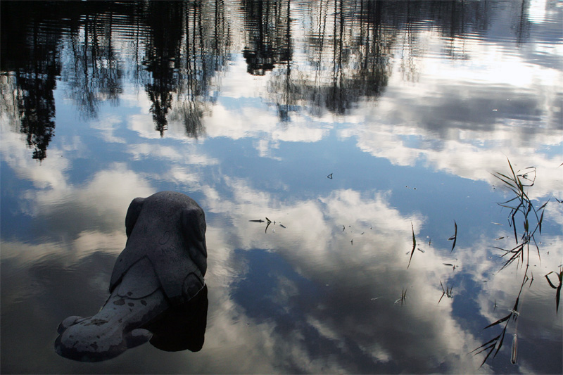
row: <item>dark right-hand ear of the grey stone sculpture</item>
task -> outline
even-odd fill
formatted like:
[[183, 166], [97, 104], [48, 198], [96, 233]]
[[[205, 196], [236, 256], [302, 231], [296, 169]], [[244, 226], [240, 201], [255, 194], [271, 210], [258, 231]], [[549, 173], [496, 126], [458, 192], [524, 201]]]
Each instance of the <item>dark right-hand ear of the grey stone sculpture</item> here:
[[182, 234], [191, 260], [202, 275], [207, 269], [207, 246], [205, 246], [205, 214], [198, 206], [190, 206], [182, 212]]

